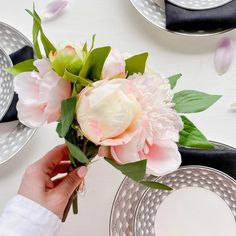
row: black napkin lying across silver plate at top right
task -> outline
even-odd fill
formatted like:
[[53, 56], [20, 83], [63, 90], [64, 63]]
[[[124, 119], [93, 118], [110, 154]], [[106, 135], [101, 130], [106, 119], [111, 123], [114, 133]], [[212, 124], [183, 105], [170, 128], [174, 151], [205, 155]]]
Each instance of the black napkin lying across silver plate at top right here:
[[188, 10], [166, 2], [166, 28], [169, 30], [217, 30], [236, 27], [236, 0], [207, 10]]

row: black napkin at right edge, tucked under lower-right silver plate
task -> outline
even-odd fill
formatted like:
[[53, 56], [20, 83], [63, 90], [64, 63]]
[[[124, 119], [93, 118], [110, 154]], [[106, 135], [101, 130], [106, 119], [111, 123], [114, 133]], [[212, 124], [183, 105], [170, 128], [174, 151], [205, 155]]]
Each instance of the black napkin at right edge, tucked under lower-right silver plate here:
[[179, 147], [179, 151], [182, 156], [182, 166], [208, 166], [236, 179], [236, 150], [203, 150]]

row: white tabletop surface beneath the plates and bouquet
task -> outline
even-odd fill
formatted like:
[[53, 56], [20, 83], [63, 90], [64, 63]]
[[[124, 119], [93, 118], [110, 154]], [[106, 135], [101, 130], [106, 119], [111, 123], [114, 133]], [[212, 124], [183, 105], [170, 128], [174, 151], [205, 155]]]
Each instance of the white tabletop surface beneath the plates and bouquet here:
[[[46, 1], [35, 1], [40, 11]], [[24, 9], [31, 0], [1, 1], [0, 21], [31, 39], [32, 19]], [[230, 104], [236, 100], [236, 58], [229, 71], [219, 77], [213, 64], [216, 45], [224, 36], [235, 41], [235, 31], [207, 38], [179, 36], [161, 31], [140, 16], [129, 0], [69, 0], [64, 13], [44, 23], [48, 37], [58, 46], [79, 43], [96, 33], [96, 45], [111, 45], [123, 52], [149, 52], [149, 64], [168, 76], [181, 72], [176, 91], [197, 89], [224, 95], [209, 110], [189, 115], [210, 140], [236, 146], [236, 113]], [[21, 176], [30, 163], [63, 140], [55, 125], [44, 126], [13, 159], [0, 166], [0, 210], [17, 192]], [[0, 130], [1, 132], [1, 130]], [[104, 161], [95, 163], [86, 179], [86, 193], [79, 199], [79, 214], [69, 215], [59, 236], [109, 235], [109, 217], [115, 193], [123, 176]]]

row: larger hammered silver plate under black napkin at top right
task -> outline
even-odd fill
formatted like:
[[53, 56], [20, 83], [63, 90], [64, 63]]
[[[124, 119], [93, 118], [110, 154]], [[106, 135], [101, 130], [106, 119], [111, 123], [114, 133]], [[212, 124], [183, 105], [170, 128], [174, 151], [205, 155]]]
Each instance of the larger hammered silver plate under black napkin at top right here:
[[160, 7], [156, 1], [159, 0], [130, 0], [134, 8], [150, 23], [159, 29], [165, 30], [170, 33], [180, 34], [185, 36], [210, 36], [215, 34], [221, 34], [233, 29], [227, 30], [212, 30], [212, 31], [170, 31], [166, 29], [166, 15], [165, 10]]

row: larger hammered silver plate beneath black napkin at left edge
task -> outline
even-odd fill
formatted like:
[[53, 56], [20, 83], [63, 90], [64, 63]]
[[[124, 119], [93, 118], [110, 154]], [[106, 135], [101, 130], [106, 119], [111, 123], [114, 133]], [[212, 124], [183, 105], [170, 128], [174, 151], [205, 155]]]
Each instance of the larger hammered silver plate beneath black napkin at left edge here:
[[[25, 45], [32, 46], [31, 42], [22, 33], [0, 22], [0, 47], [4, 49], [6, 54], [9, 55]], [[30, 129], [19, 122], [12, 132], [0, 140], [0, 164], [20, 151], [34, 132], [35, 129]]]

